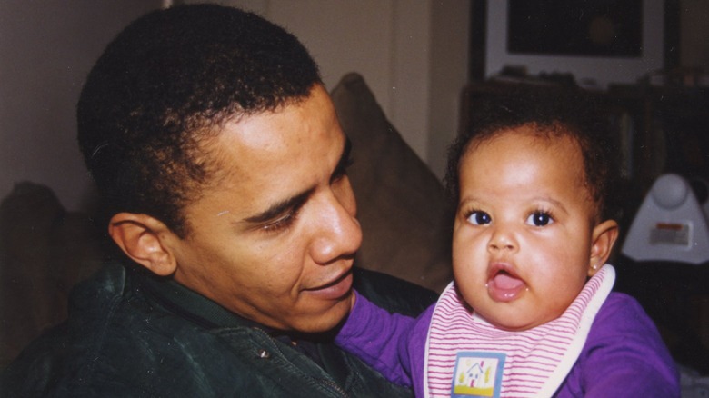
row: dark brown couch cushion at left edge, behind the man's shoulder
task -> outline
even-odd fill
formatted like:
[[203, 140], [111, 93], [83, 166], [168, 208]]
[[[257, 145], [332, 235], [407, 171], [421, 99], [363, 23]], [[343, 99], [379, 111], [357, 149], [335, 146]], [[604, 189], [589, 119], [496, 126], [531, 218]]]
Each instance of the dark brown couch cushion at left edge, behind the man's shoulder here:
[[63, 321], [71, 287], [98, 268], [88, 215], [66, 212], [52, 190], [22, 182], [0, 203], [0, 369]]

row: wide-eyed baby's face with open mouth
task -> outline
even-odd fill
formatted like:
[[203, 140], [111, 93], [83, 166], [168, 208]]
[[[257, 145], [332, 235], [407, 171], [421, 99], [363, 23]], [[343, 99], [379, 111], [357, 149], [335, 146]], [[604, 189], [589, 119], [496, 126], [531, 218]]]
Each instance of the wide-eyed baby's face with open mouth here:
[[564, 313], [594, 274], [593, 240], [594, 204], [572, 139], [522, 126], [464, 154], [454, 275], [490, 323], [524, 330]]

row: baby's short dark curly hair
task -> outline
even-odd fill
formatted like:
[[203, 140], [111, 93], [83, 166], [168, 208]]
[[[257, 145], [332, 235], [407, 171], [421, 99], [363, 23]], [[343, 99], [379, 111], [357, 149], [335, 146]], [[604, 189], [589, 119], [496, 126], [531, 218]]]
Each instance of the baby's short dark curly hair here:
[[598, 221], [615, 218], [617, 209], [610, 195], [618, 181], [617, 144], [602, 106], [594, 95], [581, 90], [527, 86], [481, 101], [464, 131], [448, 148], [444, 182], [453, 204], [460, 199], [459, 169], [466, 151], [504, 131], [529, 125], [536, 134], [550, 139], [566, 135], [579, 145], [585, 185], [596, 205], [596, 217]]

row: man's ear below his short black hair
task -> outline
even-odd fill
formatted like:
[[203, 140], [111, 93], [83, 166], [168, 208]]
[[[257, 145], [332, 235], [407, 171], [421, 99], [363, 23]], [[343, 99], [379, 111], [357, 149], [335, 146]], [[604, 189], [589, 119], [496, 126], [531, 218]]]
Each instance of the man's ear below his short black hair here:
[[176, 238], [161, 221], [147, 214], [119, 213], [111, 217], [108, 234], [135, 263], [155, 274], [175, 273], [175, 254], [165, 240]]

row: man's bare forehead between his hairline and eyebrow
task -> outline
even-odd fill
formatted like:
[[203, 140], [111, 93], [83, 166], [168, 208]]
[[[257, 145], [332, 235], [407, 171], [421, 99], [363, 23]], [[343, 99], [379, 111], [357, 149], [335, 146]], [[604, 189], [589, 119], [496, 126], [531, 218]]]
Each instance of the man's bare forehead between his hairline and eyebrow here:
[[239, 192], [251, 213], [265, 211], [329, 180], [345, 143], [329, 96], [314, 89], [300, 104], [222, 125], [206, 148], [217, 175], [210, 191]]

